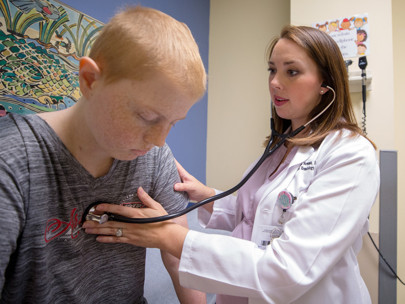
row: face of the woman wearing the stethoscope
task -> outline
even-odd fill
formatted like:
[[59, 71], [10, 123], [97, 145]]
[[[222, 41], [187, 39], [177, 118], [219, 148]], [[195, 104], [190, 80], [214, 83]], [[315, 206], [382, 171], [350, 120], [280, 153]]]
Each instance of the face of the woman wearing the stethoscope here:
[[322, 80], [309, 55], [295, 42], [282, 38], [269, 60], [269, 90], [277, 115], [291, 120], [296, 129], [310, 120], [309, 113], [320, 102]]

